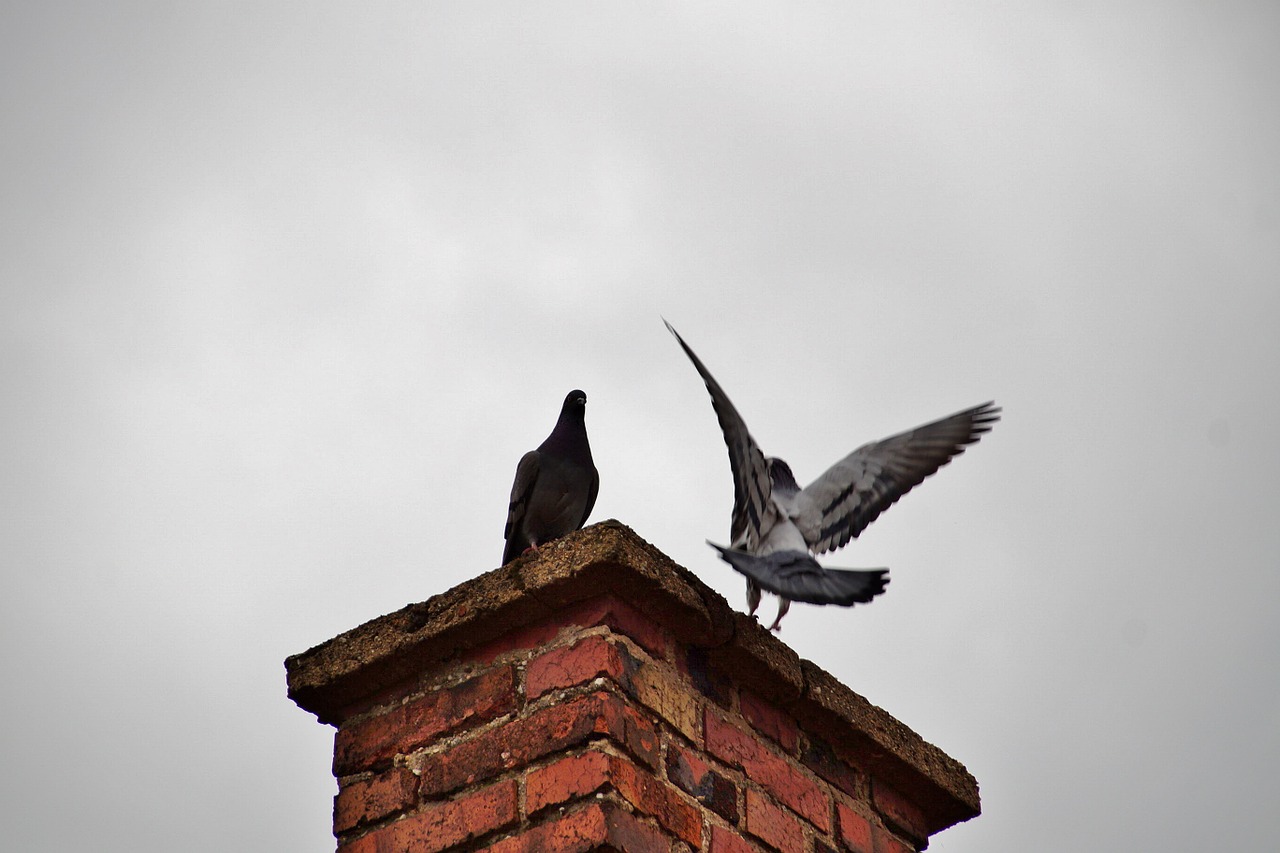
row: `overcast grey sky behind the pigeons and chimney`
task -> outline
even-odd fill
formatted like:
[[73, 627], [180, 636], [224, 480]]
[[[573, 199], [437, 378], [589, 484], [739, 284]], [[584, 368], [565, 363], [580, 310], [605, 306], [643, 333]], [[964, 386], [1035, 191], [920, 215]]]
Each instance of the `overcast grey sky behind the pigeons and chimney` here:
[[1005, 406], [782, 633], [977, 776], [931, 850], [1274, 843], [1280, 6], [111, 5], [0, 12], [14, 849], [330, 849], [283, 658], [494, 567], [570, 388], [741, 606], [659, 316], [801, 482]]

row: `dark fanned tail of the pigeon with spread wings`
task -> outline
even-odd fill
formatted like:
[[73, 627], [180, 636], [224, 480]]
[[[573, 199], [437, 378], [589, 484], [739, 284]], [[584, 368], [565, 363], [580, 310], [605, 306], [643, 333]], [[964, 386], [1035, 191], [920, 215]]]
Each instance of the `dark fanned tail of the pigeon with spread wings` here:
[[806, 605], [865, 605], [888, 585], [888, 569], [823, 569], [801, 551], [774, 551], [756, 557], [714, 542], [707, 544], [762, 589]]

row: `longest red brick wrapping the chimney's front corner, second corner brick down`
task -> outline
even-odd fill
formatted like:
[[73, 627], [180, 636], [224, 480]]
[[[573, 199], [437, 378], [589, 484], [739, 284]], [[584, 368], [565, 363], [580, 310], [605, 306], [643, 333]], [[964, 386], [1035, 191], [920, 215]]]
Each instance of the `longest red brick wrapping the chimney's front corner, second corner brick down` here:
[[522, 720], [512, 720], [452, 749], [426, 756], [420, 793], [438, 797], [598, 735], [608, 736], [650, 767], [658, 763], [658, 733], [653, 724], [620, 697], [598, 692], [539, 708]]

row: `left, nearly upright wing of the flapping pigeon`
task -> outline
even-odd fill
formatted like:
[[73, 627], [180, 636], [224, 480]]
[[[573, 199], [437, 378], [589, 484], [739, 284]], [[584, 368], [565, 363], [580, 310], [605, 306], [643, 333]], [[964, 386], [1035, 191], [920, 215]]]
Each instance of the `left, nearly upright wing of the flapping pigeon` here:
[[[663, 323], [667, 323], [663, 320]], [[754, 551], [760, 542], [763, 530], [773, 526], [777, 508], [769, 498], [772, 484], [769, 480], [769, 467], [764, 461], [764, 453], [756, 446], [755, 439], [746, 432], [746, 424], [741, 415], [733, 409], [728, 394], [719, 387], [716, 378], [707, 370], [703, 362], [689, 348], [680, 333], [667, 323], [667, 330], [676, 336], [680, 347], [694, 362], [698, 373], [707, 383], [707, 391], [712, 396], [712, 407], [719, 420], [721, 432], [724, 434], [724, 446], [728, 448], [728, 466], [733, 473], [733, 516], [730, 526], [733, 547]]]

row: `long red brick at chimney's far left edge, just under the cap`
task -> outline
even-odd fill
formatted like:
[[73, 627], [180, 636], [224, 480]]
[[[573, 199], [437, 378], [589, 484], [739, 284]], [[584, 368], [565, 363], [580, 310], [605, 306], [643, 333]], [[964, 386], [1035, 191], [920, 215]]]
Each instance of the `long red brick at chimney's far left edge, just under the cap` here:
[[340, 727], [334, 738], [333, 775], [381, 770], [398, 753], [509, 713], [515, 707], [515, 670], [509, 666], [488, 670]]

